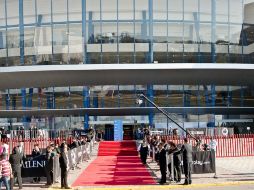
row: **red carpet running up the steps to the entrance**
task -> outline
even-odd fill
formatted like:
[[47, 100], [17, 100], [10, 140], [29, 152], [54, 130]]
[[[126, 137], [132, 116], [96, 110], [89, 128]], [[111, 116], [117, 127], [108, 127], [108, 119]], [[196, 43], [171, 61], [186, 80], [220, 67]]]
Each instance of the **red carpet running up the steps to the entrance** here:
[[98, 157], [73, 183], [76, 186], [156, 184], [140, 162], [134, 141], [101, 142]]

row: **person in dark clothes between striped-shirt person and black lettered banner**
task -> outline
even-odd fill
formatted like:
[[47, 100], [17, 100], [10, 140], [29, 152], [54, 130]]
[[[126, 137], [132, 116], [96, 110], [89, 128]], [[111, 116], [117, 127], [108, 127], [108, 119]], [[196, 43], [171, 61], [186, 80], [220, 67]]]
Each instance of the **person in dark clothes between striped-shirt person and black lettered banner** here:
[[22, 189], [22, 178], [21, 178], [21, 165], [22, 165], [22, 155], [19, 153], [18, 147], [14, 147], [12, 154], [9, 158], [13, 180], [11, 180], [11, 189], [13, 189], [15, 178], [18, 180], [19, 189]]

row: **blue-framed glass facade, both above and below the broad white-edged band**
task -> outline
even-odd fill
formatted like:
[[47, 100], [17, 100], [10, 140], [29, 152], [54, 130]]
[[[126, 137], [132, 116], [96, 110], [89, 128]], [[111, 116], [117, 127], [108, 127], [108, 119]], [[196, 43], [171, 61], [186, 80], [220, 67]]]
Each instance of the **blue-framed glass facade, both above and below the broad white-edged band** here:
[[[253, 18], [254, 0], [0, 0], [0, 66], [252, 64]], [[6, 89], [0, 108], [135, 107], [140, 92], [165, 107], [254, 106], [252, 86], [137, 84]]]

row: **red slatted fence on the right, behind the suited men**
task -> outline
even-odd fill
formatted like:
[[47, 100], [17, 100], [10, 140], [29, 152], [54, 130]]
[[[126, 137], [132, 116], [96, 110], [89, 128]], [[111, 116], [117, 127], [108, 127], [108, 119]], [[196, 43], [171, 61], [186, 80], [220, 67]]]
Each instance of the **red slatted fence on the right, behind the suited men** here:
[[[176, 144], [183, 144], [183, 137], [162, 135], [162, 139], [173, 141]], [[217, 142], [216, 157], [240, 157], [254, 156], [254, 134], [213, 136]], [[202, 144], [209, 144], [211, 136], [201, 136]], [[196, 142], [190, 143], [195, 146]]]

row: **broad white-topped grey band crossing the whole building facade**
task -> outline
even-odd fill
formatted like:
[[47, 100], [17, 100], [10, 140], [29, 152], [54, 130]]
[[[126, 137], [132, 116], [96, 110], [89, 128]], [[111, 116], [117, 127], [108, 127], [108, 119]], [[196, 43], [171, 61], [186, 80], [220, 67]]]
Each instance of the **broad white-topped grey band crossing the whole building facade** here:
[[0, 89], [83, 85], [253, 85], [254, 64], [81, 64], [0, 68]]

